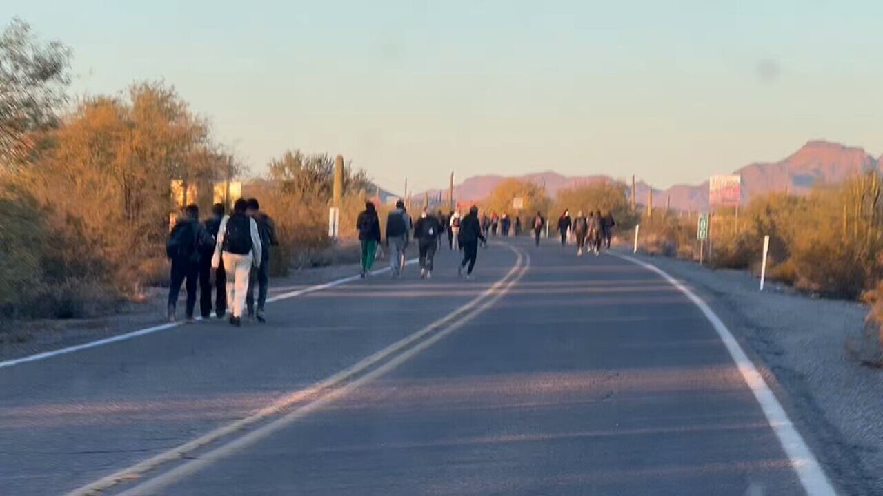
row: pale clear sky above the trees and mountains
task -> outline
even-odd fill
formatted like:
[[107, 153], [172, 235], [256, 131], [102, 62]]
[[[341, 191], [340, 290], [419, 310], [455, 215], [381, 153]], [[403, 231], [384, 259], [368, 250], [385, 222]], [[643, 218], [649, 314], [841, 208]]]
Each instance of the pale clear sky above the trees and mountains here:
[[76, 93], [165, 79], [254, 174], [341, 153], [387, 188], [555, 169], [699, 182], [808, 139], [883, 153], [883, 2], [4, 0]]

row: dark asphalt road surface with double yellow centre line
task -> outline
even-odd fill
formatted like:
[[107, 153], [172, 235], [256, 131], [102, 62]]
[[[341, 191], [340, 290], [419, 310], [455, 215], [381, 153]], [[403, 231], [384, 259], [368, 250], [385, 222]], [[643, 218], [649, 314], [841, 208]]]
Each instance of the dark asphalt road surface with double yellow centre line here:
[[455, 267], [0, 369], [0, 493], [806, 493], [660, 274], [526, 240]]

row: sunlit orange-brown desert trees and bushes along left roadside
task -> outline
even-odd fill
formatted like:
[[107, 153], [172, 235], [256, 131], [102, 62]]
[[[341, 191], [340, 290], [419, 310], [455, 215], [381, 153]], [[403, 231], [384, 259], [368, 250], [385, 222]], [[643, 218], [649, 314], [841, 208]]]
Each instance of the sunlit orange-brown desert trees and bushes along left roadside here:
[[[13, 20], [0, 34], [0, 315], [75, 317], [137, 300], [169, 274], [171, 182], [247, 171], [173, 86], [136, 82], [72, 100], [71, 51]], [[328, 246], [333, 158], [287, 152], [246, 181], [275, 217], [275, 272]], [[347, 164], [342, 233], [373, 191]], [[200, 195], [203, 216], [211, 194]], [[306, 262], [301, 262], [306, 263]]]

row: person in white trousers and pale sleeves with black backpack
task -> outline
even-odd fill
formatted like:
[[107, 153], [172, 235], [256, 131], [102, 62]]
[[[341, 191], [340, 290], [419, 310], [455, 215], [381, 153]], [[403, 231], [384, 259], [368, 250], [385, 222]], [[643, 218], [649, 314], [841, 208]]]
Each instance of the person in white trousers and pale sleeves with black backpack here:
[[238, 199], [233, 204], [233, 214], [221, 221], [218, 229], [212, 267], [227, 271], [227, 303], [230, 304], [230, 324], [242, 325], [245, 311], [245, 294], [251, 278], [252, 266], [260, 270], [263, 259], [258, 223], [246, 214], [248, 202]]

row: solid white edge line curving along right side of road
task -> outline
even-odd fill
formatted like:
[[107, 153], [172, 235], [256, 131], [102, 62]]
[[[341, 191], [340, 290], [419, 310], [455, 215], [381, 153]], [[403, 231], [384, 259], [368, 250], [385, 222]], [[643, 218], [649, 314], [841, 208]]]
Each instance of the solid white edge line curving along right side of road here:
[[828, 480], [825, 470], [822, 470], [821, 465], [819, 465], [819, 460], [812, 454], [812, 450], [807, 446], [806, 441], [804, 441], [800, 432], [797, 432], [794, 424], [788, 417], [788, 414], [785, 413], [785, 409], [782, 408], [781, 403], [776, 399], [773, 390], [766, 384], [766, 380], [764, 380], [764, 377], [758, 372], [754, 363], [751, 362], [751, 358], [745, 354], [745, 351], [739, 345], [739, 342], [736, 341], [733, 333], [730, 332], [728, 327], [711, 309], [711, 307], [706, 304], [705, 300], [698, 297], [689, 288], [684, 286], [683, 283], [677, 281], [667, 272], [651, 263], [620, 253], [611, 252], [610, 254], [619, 257], [620, 259], [625, 259], [638, 264], [641, 267], [645, 267], [656, 274], [660, 274], [660, 276], [671, 283], [672, 286], [680, 289], [681, 292], [688, 297], [700, 311], [702, 311], [706, 316], [706, 319], [711, 322], [712, 327], [714, 327], [718, 336], [721, 337], [721, 341], [724, 343], [724, 346], [727, 347], [729, 356], [733, 358], [734, 362], [736, 362], [736, 367], [739, 369], [739, 372], [742, 373], [745, 383], [751, 389], [754, 397], [758, 400], [760, 409], [763, 410], [767, 422], [773, 429], [773, 432], [775, 432], [776, 437], [779, 438], [781, 447], [784, 449], [785, 455], [788, 455], [791, 467], [796, 471], [797, 477], [800, 479], [800, 483], [804, 486], [806, 494], [808, 496], [834, 496], [837, 494], [837, 492], [834, 491], [834, 486], [831, 485], [831, 481]]

